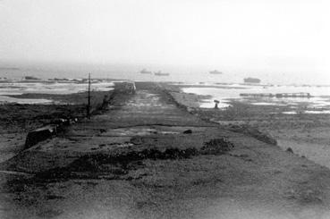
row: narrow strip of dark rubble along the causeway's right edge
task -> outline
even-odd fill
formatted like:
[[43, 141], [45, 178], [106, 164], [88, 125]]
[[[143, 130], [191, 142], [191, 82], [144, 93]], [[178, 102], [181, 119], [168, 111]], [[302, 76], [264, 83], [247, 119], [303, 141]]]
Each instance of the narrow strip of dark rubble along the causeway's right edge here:
[[260, 141], [263, 141], [267, 144], [277, 145], [276, 139], [271, 137], [268, 133], [258, 131], [258, 129], [251, 127], [249, 125], [231, 125], [229, 127], [230, 131], [241, 132], [247, 135], [250, 135], [253, 138], [256, 138]]

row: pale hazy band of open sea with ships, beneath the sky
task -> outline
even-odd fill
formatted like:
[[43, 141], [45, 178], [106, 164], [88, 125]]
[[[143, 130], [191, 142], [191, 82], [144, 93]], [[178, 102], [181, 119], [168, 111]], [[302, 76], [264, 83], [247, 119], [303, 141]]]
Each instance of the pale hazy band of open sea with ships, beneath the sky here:
[[[284, 74], [282, 77], [274, 77], [269, 72], [251, 72], [217, 69], [222, 74], [210, 74], [205, 66], [180, 66], [180, 65], [151, 65], [151, 64], [87, 64], [87, 63], [53, 63], [53, 64], [21, 64], [3, 63], [0, 65], [0, 78], [22, 79], [24, 76], [35, 76], [40, 79], [81, 79], [87, 78], [91, 73], [92, 78], [104, 78], [114, 80], [146, 80], [146, 81], [177, 81], [187, 83], [214, 82], [214, 83], [241, 83], [244, 78], [256, 77], [262, 84], [309, 84], [330, 85], [330, 76], [316, 77], [309, 80], [309, 75], [300, 73]], [[10, 69], [18, 68], [18, 69]], [[141, 74], [142, 69], [151, 72], [168, 72], [169, 76], [155, 76], [154, 74]]]

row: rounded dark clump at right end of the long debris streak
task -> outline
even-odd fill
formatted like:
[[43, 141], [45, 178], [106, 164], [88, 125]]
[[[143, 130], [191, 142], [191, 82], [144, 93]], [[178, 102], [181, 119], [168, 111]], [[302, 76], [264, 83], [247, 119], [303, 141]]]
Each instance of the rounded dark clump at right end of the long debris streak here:
[[222, 155], [233, 149], [233, 147], [233, 143], [228, 139], [211, 139], [204, 143], [204, 146], [200, 148], [199, 153], [201, 155]]

